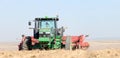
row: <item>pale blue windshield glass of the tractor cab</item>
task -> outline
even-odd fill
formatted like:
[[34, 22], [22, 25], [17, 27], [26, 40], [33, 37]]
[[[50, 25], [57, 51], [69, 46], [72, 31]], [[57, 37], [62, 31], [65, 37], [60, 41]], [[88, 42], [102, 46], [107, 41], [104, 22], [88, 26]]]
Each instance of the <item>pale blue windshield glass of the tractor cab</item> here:
[[55, 28], [53, 20], [41, 21], [40, 28]]

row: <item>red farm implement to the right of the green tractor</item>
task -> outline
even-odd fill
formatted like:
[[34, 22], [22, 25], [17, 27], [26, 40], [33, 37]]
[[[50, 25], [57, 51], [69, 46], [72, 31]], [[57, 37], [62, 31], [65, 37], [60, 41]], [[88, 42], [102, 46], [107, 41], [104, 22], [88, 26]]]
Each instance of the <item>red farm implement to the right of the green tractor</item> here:
[[[84, 42], [85, 39], [85, 35], [80, 35], [80, 36], [70, 36], [71, 39], [71, 46], [75, 47], [75, 48], [82, 48], [82, 49], [86, 49], [89, 47], [89, 43], [88, 42]], [[62, 44], [66, 44], [66, 39], [67, 36], [63, 36], [62, 38]]]

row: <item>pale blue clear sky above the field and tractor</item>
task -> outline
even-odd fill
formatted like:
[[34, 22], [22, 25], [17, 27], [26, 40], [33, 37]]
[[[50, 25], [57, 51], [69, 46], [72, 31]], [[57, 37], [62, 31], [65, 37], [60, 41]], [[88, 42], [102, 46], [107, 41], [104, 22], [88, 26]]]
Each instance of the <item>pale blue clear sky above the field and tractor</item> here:
[[120, 39], [120, 0], [0, 0], [0, 42], [32, 36], [28, 21], [56, 15], [64, 35]]

